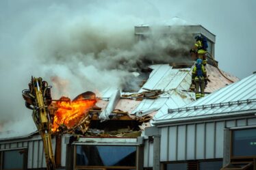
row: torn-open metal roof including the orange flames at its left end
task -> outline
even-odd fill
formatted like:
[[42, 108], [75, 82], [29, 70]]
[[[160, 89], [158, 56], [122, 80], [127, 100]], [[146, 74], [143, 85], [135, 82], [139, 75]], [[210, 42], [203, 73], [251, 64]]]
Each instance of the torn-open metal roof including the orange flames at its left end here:
[[[169, 64], [150, 68], [149, 79], [138, 92], [120, 92], [109, 87], [102, 92], [101, 98], [92, 92], [74, 100], [60, 98], [50, 108], [55, 111], [53, 131], [98, 137], [138, 137], [144, 128], [151, 126], [151, 121], [165, 115], [168, 109], [194, 101], [194, 92], [190, 91], [192, 68], [174, 68]], [[210, 80], [206, 92], [231, 83], [217, 68], [207, 65], [206, 69]], [[224, 74], [238, 81], [235, 76]], [[4, 138], [5, 134], [0, 136]]]

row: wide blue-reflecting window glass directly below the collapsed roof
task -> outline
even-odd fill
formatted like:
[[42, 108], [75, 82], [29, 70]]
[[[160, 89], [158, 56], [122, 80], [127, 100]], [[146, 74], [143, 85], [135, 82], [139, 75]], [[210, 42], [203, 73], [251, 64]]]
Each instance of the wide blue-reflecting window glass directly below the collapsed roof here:
[[77, 145], [76, 165], [136, 167], [136, 146]]

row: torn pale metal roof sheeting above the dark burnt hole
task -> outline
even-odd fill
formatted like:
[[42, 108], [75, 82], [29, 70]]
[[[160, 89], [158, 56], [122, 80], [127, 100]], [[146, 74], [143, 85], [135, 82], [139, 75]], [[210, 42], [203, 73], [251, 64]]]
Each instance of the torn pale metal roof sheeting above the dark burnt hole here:
[[[151, 119], [159, 119], [166, 115], [168, 109], [183, 107], [194, 101], [194, 92], [190, 91], [192, 68], [174, 68], [169, 64], [157, 64], [150, 66], [152, 69], [149, 79], [136, 93], [123, 93], [115, 87], [107, 87], [97, 100], [98, 114], [101, 122], [112, 119], [113, 115], [123, 115], [142, 122], [140, 129], [151, 126]], [[217, 68], [206, 66], [211, 82], [205, 91], [211, 93], [216, 89], [225, 87], [231, 82], [220, 75]], [[229, 79], [237, 81], [235, 76], [226, 74]], [[140, 117], [138, 119], [138, 117]], [[31, 121], [31, 124], [34, 124]], [[17, 130], [17, 127], [14, 127]], [[34, 132], [23, 130], [23, 133], [12, 133], [12, 137], [19, 137]], [[96, 130], [97, 131], [97, 130]], [[94, 132], [96, 132], [94, 130]], [[16, 135], [16, 136], [15, 136]], [[0, 133], [0, 138], [10, 136]]]

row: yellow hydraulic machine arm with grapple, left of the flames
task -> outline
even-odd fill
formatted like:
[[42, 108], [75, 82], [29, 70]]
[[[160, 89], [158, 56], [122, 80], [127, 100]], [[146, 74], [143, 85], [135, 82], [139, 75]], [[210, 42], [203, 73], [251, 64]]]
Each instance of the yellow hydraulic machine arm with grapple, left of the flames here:
[[48, 109], [51, 104], [51, 87], [42, 78], [31, 77], [29, 89], [23, 90], [23, 98], [28, 109], [33, 110], [32, 117], [44, 143], [44, 156], [47, 170], [55, 170], [53, 148], [51, 145], [51, 124], [53, 115]]

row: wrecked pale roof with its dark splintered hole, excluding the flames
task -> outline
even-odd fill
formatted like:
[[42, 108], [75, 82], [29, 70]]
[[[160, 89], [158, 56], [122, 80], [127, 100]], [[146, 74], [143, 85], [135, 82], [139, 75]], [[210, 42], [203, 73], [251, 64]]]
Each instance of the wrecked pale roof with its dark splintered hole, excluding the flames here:
[[[79, 126], [75, 126], [79, 128], [73, 132], [86, 136], [136, 137], [168, 109], [194, 101], [194, 92], [190, 91], [192, 68], [174, 68], [168, 64], [150, 68], [153, 71], [138, 92], [120, 93], [118, 89], [106, 89], [103, 98], [98, 98], [96, 105], [88, 111], [90, 116], [85, 116], [87, 121], [82, 124], [86, 125], [79, 122]], [[205, 89], [208, 93], [231, 83], [219, 74], [217, 68], [207, 66], [206, 69], [211, 80]]]

